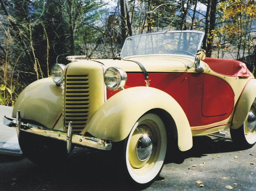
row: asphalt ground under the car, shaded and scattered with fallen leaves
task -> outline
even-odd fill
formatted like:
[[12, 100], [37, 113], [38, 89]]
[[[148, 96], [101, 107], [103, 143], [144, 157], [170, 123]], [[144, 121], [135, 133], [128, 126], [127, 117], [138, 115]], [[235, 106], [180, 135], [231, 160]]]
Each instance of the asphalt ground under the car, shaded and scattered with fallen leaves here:
[[[167, 163], [144, 191], [256, 191], [256, 146], [240, 151], [230, 135], [195, 137], [193, 144], [184, 160], [171, 153], [176, 163]], [[106, 152], [75, 148], [64, 165], [53, 161], [52, 167], [42, 167], [24, 156], [0, 154], [0, 191], [131, 190], [111, 176], [109, 158]]]

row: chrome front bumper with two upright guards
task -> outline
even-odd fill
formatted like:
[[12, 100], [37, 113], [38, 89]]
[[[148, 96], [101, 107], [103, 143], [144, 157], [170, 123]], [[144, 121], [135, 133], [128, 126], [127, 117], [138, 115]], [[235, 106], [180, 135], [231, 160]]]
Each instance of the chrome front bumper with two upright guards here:
[[72, 122], [69, 122], [69, 126], [67, 132], [58, 131], [54, 129], [48, 129], [43, 126], [33, 125], [31, 123], [24, 123], [21, 121], [20, 112], [18, 111], [16, 114], [16, 119], [10, 119], [4, 116], [3, 120], [4, 125], [15, 127], [17, 130], [17, 134], [19, 137], [19, 133], [21, 131], [33, 133], [36, 135], [49, 137], [53, 139], [57, 139], [60, 141], [66, 141], [67, 143], [67, 153], [71, 152], [71, 145], [81, 145], [83, 147], [91, 147], [100, 150], [111, 150], [112, 149], [112, 141], [111, 140], [103, 140], [94, 137], [87, 137], [80, 134], [73, 134], [73, 126]]

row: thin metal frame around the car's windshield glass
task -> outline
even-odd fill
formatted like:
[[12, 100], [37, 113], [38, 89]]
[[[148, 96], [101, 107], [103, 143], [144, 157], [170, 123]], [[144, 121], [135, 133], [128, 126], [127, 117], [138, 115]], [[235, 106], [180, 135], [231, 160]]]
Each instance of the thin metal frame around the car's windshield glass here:
[[[126, 44], [129, 40], [131, 40], [131, 38], [136, 38], [136, 37], [142, 37], [142, 36], [148, 36], [148, 35], [157, 35], [157, 34], [171, 34], [171, 33], [197, 33], [197, 34], [201, 34], [201, 39], [198, 43], [198, 47], [197, 50], [199, 50], [201, 48], [201, 44], [202, 41], [204, 39], [204, 34], [205, 32], [202, 31], [193, 31], [193, 30], [186, 30], [186, 31], [164, 31], [164, 32], [150, 32], [150, 33], [144, 33], [144, 34], [138, 34], [138, 35], [134, 35], [134, 36], [130, 36], [127, 37], [126, 40], [124, 41], [124, 45], [122, 47], [121, 53], [120, 53], [120, 57], [121, 58], [128, 58], [128, 57], [141, 57], [141, 56], [163, 56], [163, 55], [172, 55], [172, 56], [184, 56], [184, 57], [195, 57], [195, 55], [187, 55], [187, 54], [173, 54], [173, 53], [155, 53], [155, 54], [136, 54], [136, 55], [129, 55], [129, 56], [122, 56], [124, 53], [124, 48], [126, 47]], [[195, 51], [196, 54], [196, 51]]]

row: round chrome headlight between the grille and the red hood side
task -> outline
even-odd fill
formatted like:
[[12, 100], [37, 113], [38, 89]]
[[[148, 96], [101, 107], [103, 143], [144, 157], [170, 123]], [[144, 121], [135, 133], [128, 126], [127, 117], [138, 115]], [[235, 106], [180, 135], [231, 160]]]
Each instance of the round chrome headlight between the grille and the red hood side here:
[[111, 67], [104, 73], [104, 82], [110, 90], [122, 90], [126, 80], [127, 74], [121, 68]]

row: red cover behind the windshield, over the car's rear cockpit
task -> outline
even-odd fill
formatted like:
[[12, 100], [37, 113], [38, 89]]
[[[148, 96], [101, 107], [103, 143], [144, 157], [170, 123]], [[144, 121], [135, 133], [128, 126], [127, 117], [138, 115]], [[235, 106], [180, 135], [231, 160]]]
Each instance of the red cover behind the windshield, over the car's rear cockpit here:
[[205, 58], [204, 62], [214, 72], [225, 76], [248, 77], [251, 75], [246, 64], [237, 60]]

